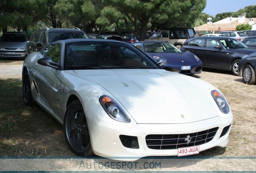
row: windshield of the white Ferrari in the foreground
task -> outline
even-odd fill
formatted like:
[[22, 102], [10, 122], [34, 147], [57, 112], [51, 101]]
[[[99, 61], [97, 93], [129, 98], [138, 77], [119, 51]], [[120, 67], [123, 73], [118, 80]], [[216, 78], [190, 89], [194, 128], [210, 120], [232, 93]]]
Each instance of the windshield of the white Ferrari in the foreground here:
[[66, 46], [66, 69], [157, 69], [151, 58], [130, 44], [74, 42]]

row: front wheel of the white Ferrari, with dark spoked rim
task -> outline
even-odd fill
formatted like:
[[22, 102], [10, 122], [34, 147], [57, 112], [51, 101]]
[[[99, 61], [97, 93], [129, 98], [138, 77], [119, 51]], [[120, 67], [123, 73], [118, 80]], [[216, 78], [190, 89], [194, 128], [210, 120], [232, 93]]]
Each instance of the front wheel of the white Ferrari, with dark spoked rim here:
[[68, 105], [64, 117], [64, 134], [68, 146], [76, 155], [93, 155], [85, 112], [78, 100]]

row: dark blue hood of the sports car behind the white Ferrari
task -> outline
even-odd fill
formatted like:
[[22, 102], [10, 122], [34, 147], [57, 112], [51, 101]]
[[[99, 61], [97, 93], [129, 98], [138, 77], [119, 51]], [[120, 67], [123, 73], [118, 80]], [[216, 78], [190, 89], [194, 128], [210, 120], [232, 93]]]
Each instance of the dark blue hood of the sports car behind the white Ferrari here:
[[149, 55], [151, 58], [153, 58], [153, 56], [165, 58], [167, 60], [167, 64], [191, 64], [196, 62], [194, 54], [188, 52], [147, 53], [147, 55]]

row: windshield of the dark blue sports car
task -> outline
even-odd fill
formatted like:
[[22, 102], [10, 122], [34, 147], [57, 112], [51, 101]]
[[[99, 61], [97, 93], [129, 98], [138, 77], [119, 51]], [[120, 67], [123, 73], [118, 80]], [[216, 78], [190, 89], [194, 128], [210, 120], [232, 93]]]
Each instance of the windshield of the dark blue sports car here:
[[168, 42], [144, 43], [144, 51], [146, 53], [181, 52], [176, 46], [173, 46]]

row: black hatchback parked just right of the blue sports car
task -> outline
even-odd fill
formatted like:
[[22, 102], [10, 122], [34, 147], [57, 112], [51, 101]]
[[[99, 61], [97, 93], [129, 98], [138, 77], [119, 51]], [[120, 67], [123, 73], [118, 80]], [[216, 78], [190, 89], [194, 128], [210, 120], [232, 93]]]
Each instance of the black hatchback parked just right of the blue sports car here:
[[245, 44], [229, 37], [195, 37], [184, 42], [182, 52], [198, 56], [205, 68], [231, 70], [237, 75], [238, 64], [242, 57], [256, 52]]

